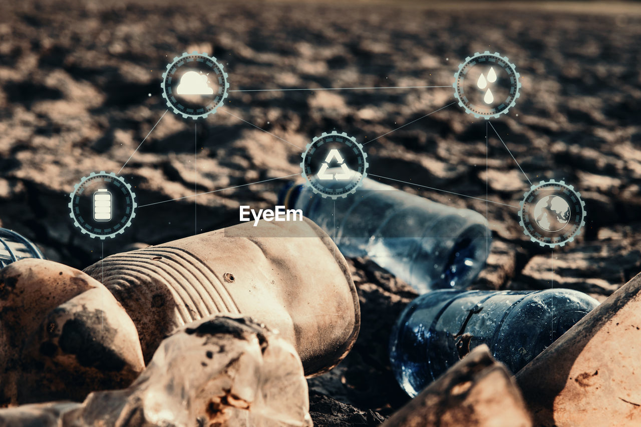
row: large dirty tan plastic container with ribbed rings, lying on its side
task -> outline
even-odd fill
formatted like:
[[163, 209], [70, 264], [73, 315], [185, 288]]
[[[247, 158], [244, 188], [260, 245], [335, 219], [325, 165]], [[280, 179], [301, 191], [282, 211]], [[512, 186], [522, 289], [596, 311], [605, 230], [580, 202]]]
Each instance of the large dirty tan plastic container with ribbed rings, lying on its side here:
[[349, 353], [360, 328], [347, 262], [307, 218], [244, 222], [110, 255], [85, 272], [131, 317], [147, 362], [176, 328], [242, 314], [278, 330], [296, 347], [305, 374], [317, 375]]

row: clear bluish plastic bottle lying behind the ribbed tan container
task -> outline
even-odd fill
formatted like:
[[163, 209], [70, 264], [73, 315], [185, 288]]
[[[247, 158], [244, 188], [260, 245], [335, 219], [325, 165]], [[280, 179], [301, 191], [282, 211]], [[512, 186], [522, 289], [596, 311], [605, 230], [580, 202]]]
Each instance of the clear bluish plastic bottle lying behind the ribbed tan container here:
[[[344, 183], [342, 183], [344, 185]], [[485, 266], [492, 233], [483, 215], [365, 178], [333, 200], [289, 183], [279, 205], [301, 209], [345, 256], [368, 256], [420, 293], [464, 288]]]

